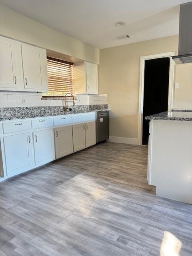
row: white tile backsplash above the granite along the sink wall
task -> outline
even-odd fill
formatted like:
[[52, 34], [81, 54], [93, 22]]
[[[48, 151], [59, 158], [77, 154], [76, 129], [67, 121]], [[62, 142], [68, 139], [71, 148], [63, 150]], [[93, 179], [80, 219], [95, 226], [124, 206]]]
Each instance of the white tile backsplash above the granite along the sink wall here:
[[[62, 100], [42, 100], [41, 92], [10, 92], [0, 91], [0, 108], [62, 106]], [[68, 101], [67, 105], [72, 105]], [[108, 104], [108, 94], [76, 94], [75, 105]]]

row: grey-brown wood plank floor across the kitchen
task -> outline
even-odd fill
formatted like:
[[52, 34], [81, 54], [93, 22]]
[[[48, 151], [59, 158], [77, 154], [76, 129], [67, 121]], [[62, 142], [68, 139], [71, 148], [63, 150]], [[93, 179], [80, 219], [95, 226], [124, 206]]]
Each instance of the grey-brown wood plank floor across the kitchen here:
[[147, 147], [104, 142], [1, 182], [0, 256], [156, 256], [165, 230], [192, 256], [192, 205], [146, 176]]

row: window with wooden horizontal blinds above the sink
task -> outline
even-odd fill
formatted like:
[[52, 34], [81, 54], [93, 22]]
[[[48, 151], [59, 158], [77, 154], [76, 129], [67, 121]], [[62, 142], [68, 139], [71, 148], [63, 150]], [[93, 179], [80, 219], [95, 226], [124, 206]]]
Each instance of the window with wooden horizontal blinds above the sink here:
[[48, 92], [43, 97], [61, 97], [67, 92], [73, 94], [73, 63], [47, 57]]

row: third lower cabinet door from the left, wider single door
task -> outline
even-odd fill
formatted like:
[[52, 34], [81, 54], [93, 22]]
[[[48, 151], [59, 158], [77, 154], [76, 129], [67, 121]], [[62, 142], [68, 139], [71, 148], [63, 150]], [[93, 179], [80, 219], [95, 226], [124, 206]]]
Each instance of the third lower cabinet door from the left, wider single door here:
[[63, 126], [54, 129], [56, 158], [73, 152], [72, 126]]

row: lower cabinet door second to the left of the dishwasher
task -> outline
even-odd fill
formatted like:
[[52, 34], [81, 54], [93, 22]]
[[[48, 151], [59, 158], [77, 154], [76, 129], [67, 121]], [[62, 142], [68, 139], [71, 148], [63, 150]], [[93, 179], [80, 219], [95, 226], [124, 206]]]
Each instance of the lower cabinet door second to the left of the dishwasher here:
[[73, 125], [73, 150], [78, 151], [85, 148], [85, 124]]

